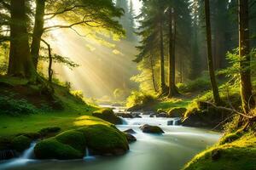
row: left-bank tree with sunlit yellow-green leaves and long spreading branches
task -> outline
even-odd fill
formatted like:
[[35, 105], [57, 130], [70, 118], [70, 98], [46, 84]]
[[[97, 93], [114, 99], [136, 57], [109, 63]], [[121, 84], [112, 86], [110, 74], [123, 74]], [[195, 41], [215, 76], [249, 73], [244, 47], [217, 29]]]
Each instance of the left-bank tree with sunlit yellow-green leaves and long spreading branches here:
[[[85, 26], [91, 28], [104, 28], [113, 33], [123, 35], [124, 31], [119, 25], [119, 22], [113, 20], [114, 17], [120, 17], [123, 12], [120, 8], [115, 8], [111, 0], [79, 0], [79, 1], [36, 1], [36, 15], [35, 24], [32, 35], [31, 52], [33, 56], [34, 65], [38, 67], [38, 56], [40, 49], [41, 37], [44, 32], [54, 29], [73, 29], [76, 33], [78, 31], [75, 26]], [[47, 10], [47, 13], [45, 13]], [[65, 19], [66, 25], [44, 26], [44, 17], [46, 20], [53, 20], [55, 18]], [[81, 36], [79, 34], [79, 36]]]

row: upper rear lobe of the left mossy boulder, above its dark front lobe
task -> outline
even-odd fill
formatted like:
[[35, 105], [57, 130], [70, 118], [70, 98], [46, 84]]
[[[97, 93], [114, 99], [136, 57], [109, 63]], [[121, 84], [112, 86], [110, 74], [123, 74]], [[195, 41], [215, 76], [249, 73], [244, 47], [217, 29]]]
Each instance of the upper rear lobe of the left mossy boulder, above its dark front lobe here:
[[80, 152], [83, 152], [86, 148], [86, 140], [84, 138], [84, 134], [79, 131], [66, 131], [64, 133], [58, 134], [55, 139], [62, 144], [68, 144], [72, 146], [74, 149], [79, 150]]

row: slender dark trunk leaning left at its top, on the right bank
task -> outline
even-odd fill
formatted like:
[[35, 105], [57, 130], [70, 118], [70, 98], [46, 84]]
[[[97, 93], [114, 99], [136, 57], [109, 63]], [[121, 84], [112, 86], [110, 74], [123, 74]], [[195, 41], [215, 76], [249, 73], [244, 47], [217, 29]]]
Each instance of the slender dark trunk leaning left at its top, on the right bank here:
[[206, 13], [206, 26], [207, 26], [207, 52], [208, 52], [208, 69], [210, 79], [212, 83], [212, 93], [215, 104], [221, 103], [218, 94], [218, 85], [214, 73], [213, 59], [212, 59], [212, 32], [211, 32], [211, 21], [210, 21], [210, 5], [209, 0], [205, 0], [205, 13]]

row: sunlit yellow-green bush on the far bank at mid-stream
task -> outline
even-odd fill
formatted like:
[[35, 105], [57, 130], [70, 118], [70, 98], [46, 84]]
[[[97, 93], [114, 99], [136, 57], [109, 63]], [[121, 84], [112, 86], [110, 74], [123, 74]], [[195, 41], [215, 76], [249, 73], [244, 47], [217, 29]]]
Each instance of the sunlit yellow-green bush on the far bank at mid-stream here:
[[126, 106], [132, 107], [134, 105], [148, 105], [150, 103], [153, 103], [155, 100], [156, 97], [152, 94], [132, 91], [131, 95], [127, 98]]

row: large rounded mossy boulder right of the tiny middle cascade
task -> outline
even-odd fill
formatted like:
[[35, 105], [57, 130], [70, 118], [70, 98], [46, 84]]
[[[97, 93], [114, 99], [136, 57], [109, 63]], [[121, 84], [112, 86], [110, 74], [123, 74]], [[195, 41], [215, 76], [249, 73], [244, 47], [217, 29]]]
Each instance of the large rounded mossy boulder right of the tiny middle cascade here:
[[120, 155], [129, 150], [125, 134], [117, 128], [99, 124], [79, 130], [84, 133], [88, 148], [96, 155]]

